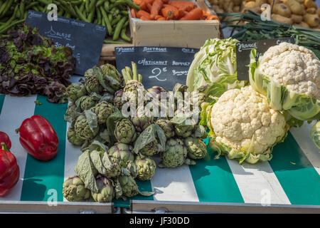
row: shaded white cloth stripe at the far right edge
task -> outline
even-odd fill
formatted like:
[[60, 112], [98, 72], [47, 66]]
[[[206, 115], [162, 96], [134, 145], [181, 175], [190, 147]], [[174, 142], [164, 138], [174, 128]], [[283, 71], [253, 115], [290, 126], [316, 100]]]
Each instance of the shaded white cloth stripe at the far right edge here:
[[311, 124], [304, 123], [301, 128], [291, 128], [290, 132], [304, 152], [304, 155], [306, 155], [311, 165], [320, 175], [320, 150], [314, 145], [310, 137], [310, 130], [315, 123], [316, 121], [313, 121]]

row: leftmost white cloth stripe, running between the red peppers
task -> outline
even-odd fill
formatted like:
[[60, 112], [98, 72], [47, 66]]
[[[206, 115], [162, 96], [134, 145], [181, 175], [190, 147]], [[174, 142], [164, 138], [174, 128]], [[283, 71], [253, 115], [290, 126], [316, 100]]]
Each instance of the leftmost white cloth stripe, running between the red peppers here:
[[26, 157], [28, 153], [21, 146], [19, 142], [19, 134], [16, 133], [16, 129], [20, 128], [23, 120], [30, 118], [34, 114], [36, 105], [34, 102], [36, 98], [36, 95], [19, 98], [6, 95], [4, 98], [4, 105], [0, 115], [0, 130], [9, 135], [12, 145], [11, 152], [16, 156], [20, 170], [20, 177], [9, 195], [1, 197], [1, 200], [20, 200], [24, 170], [26, 167]]

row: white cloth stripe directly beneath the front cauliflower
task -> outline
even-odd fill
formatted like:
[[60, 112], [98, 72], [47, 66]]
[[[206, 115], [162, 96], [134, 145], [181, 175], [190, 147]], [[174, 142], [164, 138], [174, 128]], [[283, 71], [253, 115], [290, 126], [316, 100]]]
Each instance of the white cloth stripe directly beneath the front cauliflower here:
[[227, 158], [227, 161], [245, 203], [290, 204], [268, 162], [240, 165], [237, 160]]

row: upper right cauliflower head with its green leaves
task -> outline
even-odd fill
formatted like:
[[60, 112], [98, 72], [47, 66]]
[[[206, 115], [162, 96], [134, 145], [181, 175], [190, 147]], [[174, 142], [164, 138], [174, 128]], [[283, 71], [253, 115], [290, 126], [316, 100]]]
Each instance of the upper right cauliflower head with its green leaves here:
[[270, 47], [256, 63], [251, 51], [250, 85], [267, 96], [274, 110], [297, 120], [314, 120], [320, 113], [320, 61], [309, 49], [292, 43]]

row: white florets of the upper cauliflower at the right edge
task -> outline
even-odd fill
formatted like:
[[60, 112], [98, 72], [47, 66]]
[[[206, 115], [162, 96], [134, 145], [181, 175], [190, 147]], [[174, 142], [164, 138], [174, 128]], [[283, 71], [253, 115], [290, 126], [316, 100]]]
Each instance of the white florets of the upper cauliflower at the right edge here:
[[320, 61], [308, 48], [286, 42], [272, 46], [259, 69], [288, 90], [320, 99]]

